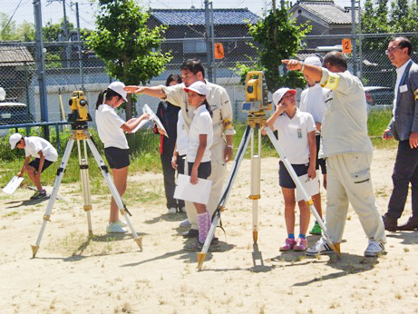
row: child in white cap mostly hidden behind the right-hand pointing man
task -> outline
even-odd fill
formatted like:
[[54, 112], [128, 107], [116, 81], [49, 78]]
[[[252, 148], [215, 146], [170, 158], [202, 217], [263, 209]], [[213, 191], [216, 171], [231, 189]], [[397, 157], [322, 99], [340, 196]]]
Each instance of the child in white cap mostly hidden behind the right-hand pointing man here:
[[[308, 56], [305, 59], [305, 64], [311, 64], [315, 66], [322, 66], [321, 60], [317, 56]], [[299, 109], [302, 112], [311, 113], [316, 125], [316, 170], [321, 166], [321, 172], [324, 176], [324, 188], [326, 188], [326, 160], [318, 158], [319, 146], [321, 142], [321, 125], [324, 113], [326, 111], [326, 96], [329, 93], [329, 89], [322, 88], [321, 84], [316, 82], [308, 74], [305, 74], [305, 80], [307, 83], [306, 89], [300, 94]], [[319, 216], [322, 218], [322, 205], [321, 205], [321, 192], [312, 196], [314, 206]], [[310, 234], [321, 235], [322, 230], [319, 223], [316, 221]]]

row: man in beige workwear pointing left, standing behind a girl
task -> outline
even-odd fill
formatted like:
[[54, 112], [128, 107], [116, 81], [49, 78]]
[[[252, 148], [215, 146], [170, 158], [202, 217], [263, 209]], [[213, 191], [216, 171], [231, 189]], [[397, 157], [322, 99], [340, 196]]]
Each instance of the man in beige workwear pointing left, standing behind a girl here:
[[[227, 162], [232, 159], [232, 135], [235, 134], [232, 126], [232, 106], [225, 88], [205, 80], [205, 70], [199, 60], [190, 59], [185, 61], [181, 65], [180, 73], [183, 83], [174, 86], [127, 86], [125, 90], [128, 93], [145, 93], [179, 106], [184, 119], [184, 126], [189, 132], [194, 108], [190, 107], [187, 102], [187, 93], [184, 92], [184, 88], [198, 81], [209, 85], [210, 93], [206, 99], [212, 111], [213, 144], [210, 148], [212, 172], [208, 180], [212, 181], [212, 187], [210, 189], [208, 211], [212, 215], [219, 204], [227, 174]], [[190, 201], [186, 201], [186, 212], [191, 227], [190, 231], [183, 236], [188, 238], [197, 237], [196, 209]]]

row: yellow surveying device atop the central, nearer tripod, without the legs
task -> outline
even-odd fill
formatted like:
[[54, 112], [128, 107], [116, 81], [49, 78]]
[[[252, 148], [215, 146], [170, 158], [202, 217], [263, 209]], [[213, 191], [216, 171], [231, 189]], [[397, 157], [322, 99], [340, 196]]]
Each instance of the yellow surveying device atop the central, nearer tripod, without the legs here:
[[246, 101], [242, 111], [248, 113], [250, 127], [262, 127], [267, 119], [266, 112], [272, 109], [267, 99], [267, 83], [262, 71], [249, 71], [246, 78]]

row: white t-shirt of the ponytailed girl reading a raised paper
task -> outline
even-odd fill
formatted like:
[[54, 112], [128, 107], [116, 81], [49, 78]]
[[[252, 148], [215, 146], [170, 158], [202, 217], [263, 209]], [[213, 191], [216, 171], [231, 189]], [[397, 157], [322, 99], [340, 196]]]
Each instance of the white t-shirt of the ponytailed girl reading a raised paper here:
[[129, 149], [125, 133], [121, 129], [123, 123], [125, 121], [116, 114], [112, 106], [106, 103], [99, 106], [96, 110], [96, 125], [104, 147]]

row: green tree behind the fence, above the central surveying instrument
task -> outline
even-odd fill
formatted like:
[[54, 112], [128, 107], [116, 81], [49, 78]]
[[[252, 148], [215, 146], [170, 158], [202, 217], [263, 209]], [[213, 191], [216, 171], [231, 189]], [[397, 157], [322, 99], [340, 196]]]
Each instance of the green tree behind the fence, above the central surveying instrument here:
[[238, 74], [241, 81], [250, 70], [264, 71], [267, 80], [267, 87], [274, 92], [279, 87], [302, 87], [304, 79], [296, 72], [284, 71], [280, 68], [281, 60], [293, 58], [301, 49], [301, 41], [309, 32], [311, 26], [296, 25], [293, 19], [287, 14], [287, 9], [276, 9], [269, 11], [264, 19], [258, 23], [249, 25], [249, 34], [257, 43], [253, 45], [258, 51], [259, 61], [252, 67], [245, 64], [237, 64]]

